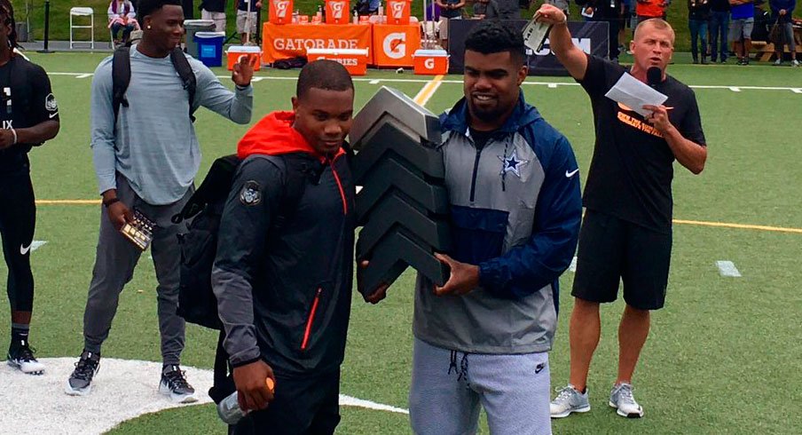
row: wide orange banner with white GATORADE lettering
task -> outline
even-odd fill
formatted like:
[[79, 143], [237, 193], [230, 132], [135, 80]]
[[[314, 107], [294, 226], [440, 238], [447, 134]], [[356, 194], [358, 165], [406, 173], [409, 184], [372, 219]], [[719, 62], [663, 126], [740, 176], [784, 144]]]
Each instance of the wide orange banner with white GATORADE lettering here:
[[362, 48], [368, 49], [370, 56], [373, 51], [370, 28], [371, 26], [366, 24], [276, 25], [267, 22], [263, 26], [262, 59], [264, 63], [273, 63], [279, 59], [306, 57], [306, 50], [310, 48], [329, 50]]

